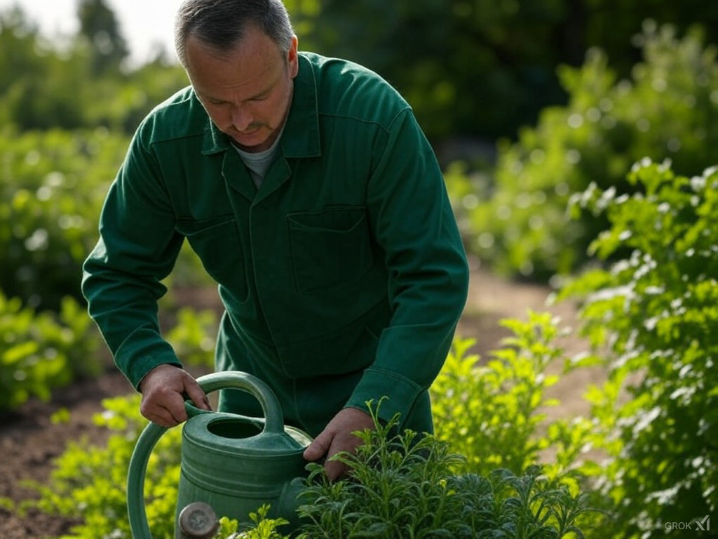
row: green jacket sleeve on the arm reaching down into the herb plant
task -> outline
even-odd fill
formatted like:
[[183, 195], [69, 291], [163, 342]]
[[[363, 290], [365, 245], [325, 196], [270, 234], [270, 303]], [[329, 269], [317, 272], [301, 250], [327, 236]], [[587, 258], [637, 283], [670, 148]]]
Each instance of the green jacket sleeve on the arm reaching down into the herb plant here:
[[411, 109], [392, 122], [368, 183], [370, 226], [385, 253], [390, 325], [347, 403], [389, 397], [380, 417], [407, 418], [444, 364], [467, 298], [461, 236], [434, 152]]

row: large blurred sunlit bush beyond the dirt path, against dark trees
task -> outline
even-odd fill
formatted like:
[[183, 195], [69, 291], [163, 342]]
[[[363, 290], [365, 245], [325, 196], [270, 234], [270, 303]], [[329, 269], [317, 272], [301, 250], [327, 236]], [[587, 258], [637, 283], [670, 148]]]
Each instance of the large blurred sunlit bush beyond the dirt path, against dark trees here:
[[630, 80], [617, 81], [600, 50], [580, 69], [561, 68], [568, 105], [545, 109], [518, 142], [500, 145], [493, 185], [451, 176], [468, 249], [495, 270], [547, 279], [577, 269], [607, 223], [591, 213], [572, 221], [570, 196], [591, 182], [625, 190], [630, 165], [645, 156], [670, 157], [687, 174], [714, 165], [716, 48], [697, 32], [679, 39], [650, 23], [638, 42], [644, 59]]

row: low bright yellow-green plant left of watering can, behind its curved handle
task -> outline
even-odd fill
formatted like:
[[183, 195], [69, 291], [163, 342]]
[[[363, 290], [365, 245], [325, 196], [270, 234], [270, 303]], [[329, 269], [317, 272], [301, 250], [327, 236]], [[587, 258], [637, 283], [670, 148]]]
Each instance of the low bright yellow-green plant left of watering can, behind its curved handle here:
[[[105, 446], [70, 442], [55, 461], [47, 484], [34, 484], [39, 509], [80, 523], [62, 539], [131, 539], [126, 508], [130, 457], [146, 420], [139, 414], [139, 395], [103, 401], [106, 412], [95, 423], [108, 429]], [[173, 534], [177, 483], [180, 481], [181, 429], [170, 429], [152, 451], [145, 480], [146, 514], [157, 537]]]

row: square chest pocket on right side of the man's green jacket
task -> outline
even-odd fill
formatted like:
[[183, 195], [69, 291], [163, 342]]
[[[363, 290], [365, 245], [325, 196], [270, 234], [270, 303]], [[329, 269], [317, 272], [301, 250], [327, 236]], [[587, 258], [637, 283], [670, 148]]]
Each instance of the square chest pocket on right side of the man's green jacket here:
[[373, 256], [363, 206], [289, 213], [286, 218], [299, 292], [349, 285], [370, 269]]

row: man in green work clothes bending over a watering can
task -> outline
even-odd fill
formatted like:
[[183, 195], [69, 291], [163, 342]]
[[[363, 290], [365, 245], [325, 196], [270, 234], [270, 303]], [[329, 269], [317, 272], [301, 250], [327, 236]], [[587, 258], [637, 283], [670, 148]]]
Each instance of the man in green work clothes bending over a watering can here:
[[[187, 0], [192, 86], [142, 122], [109, 190], [83, 292], [141, 413], [208, 408], [162, 339], [157, 300], [185, 238], [219, 284], [217, 369], [264, 379], [304, 457], [353, 451], [380, 418], [431, 431], [427, 388], [465, 303], [467, 264], [409, 105], [359, 65], [297, 52], [280, 0]], [[237, 390], [220, 410], [261, 415]], [[326, 464], [335, 479], [345, 469]]]

